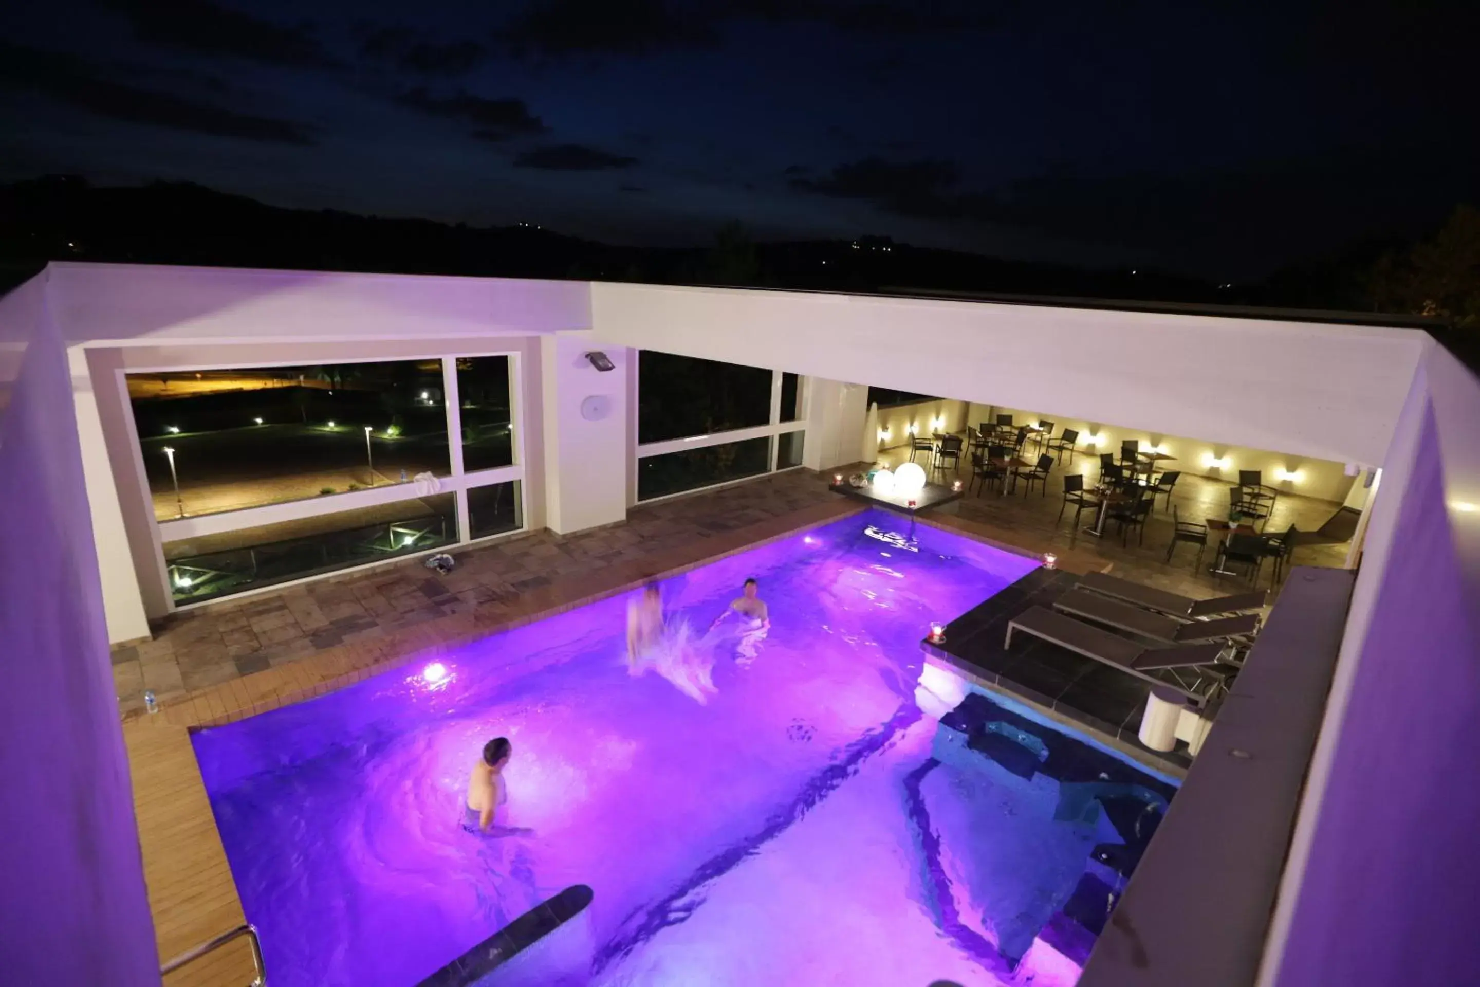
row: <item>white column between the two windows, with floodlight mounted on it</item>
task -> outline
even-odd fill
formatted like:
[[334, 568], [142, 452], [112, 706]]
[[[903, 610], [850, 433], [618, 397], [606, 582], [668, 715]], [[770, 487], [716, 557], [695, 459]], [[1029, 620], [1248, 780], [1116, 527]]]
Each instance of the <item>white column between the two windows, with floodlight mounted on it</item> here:
[[[598, 371], [585, 357], [589, 349], [604, 352], [616, 368]], [[635, 358], [632, 349], [592, 343], [586, 331], [540, 337], [545, 524], [558, 534], [628, 518], [628, 404], [633, 400], [628, 364]]]

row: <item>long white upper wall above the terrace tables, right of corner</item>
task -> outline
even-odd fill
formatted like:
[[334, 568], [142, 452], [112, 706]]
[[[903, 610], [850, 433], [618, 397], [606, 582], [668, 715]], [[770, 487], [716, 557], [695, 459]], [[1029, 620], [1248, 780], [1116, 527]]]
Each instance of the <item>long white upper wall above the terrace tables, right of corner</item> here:
[[591, 286], [601, 340], [1378, 463], [1412, 330], [805, 292]]

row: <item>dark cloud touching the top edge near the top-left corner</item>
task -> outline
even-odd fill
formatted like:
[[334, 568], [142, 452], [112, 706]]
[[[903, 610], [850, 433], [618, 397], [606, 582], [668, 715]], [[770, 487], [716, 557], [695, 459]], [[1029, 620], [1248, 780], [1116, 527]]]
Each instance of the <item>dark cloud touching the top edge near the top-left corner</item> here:
[[93, 0], [121, 13], [141, 41], [269, 65], [330, 67], [334, 59], [306, 25], [284, 27], [210, 0]]

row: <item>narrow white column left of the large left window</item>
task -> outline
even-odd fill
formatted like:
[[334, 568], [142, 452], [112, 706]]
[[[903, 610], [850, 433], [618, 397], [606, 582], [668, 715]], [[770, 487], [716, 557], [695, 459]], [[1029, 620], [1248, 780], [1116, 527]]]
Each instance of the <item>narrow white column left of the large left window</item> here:
[[102, 580], [102, 605], [108, 620], [108, 641], [135, 641], [149, 636], [149, 621], [144, 614], [139, 577], [129, 550], [129, 534], [123, 527], [123, 508], [114, 487], [104, 439], [98, 395], [87, 370], [87, 354], [81, 346], [67, 351], [73, 376], [73, 407], [77, 413], [77, 439], [83, 456], [83, 479], [87, 484], [87, 508], [92, 515], [93, 545], [98, 546], [98, 573]]

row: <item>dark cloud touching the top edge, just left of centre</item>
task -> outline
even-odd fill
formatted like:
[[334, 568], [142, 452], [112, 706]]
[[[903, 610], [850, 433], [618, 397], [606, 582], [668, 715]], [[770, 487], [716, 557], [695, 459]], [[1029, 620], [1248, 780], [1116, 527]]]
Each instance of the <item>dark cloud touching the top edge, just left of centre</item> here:
[[665, 0], [534, 0], [494, 38], [521, 58], [648, 55], [719, 43], [713, 10]]

